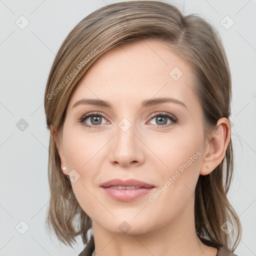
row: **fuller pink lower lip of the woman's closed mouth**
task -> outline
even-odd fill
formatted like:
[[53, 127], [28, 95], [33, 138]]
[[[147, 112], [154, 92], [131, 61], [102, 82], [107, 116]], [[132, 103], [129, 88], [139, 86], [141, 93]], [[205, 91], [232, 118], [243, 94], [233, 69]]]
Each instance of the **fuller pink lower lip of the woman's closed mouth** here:
[[102, 187], [107, 195], [118, 201], [132, 201], [147, 193], [149, 193], [154, 187], [141, 187], [134, 189], [118, 189], [111, 187]]

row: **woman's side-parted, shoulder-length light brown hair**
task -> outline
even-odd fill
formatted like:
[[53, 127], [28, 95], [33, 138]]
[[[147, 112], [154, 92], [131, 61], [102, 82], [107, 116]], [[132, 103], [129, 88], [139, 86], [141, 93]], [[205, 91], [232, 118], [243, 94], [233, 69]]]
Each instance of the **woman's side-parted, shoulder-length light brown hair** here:
[[[45, 89], [44, 109], [47, 127], [55, 127], [60, 140], [68, 100], [86, 70], [114, 46], [143, 38], [167, 43], [191, 66], [195, 77], [193, 89], [203, 110], [205, 137], [216, 128], [220, 117], [229, 117], [231, 76], [225, 50], [215, 28], [197, 15], [182, 15], [168, 3], [126, 1], [109, 4], [82, 19], [69, 32], [56, 54]], [[81, 235], [84, 244], [88, 242], [91, 219], [79, 206], [60, 164], [53, 135], [50, 134], [50, 202], [46, 224], [61, 242], [72, 247], [77, 235]], [[232, 175], [230, 138], [221, 163], [208, 175], [199, 175], [194, 214], [196, 233], [204, 244], [224, 246], [233, 252], [241, 237], [241, 224], [227, 199]], [[221, 229], [226, 221], [234, 227], [230, 234]], [[232, 241], [233, 237], [235, 241]]]

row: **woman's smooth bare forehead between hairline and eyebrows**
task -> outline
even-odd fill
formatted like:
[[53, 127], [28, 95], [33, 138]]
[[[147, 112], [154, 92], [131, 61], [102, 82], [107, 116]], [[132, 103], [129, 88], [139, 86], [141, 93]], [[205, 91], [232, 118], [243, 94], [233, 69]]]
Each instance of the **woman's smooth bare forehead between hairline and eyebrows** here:
[[193, 72], [163, 42], [155, 39], [122, 43], [100, 56], [86, 71], [70, 99], [82, 97], [113, 101], [119, 106], [152, 97], [173, 97], [197, 104]]

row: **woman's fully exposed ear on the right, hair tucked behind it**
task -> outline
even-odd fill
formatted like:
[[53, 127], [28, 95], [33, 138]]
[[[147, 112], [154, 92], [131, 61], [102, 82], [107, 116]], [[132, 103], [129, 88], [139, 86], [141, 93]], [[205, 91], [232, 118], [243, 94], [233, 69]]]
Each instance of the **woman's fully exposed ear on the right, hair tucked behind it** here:
[[211, 133], [207, 144], [204, 146], [204, 157], [200, 169], [201, 175], [207, 175], [213, 171], [223, 160], [227, 145], [230, 141], [230, 122], [221, 117], [217, 121], [217, 128]]

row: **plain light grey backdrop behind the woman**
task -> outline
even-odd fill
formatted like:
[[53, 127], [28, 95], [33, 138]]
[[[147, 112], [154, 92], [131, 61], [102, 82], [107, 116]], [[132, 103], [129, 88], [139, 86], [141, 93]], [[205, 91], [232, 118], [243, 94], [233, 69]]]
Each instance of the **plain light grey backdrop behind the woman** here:
[[[114, 2], [118, 1], [0, 0], [0, 255], [77, 255], [83, 248], [81, 240], [75, 250], [60, 245], [44, 228], [49, 133], [43, 94], [55, 54], [68, 32], [93, 10]], [[185, 14], [206, 18], [223, 40], [232, 74], [235, 149], [228, 198], [243, 228], [235, 253], [256, 255], [256, 1], [169, 2]], [[24, 29], [15, 23], [21, 23], [21, 15], [29, 21]], [[227, 15], [234, 21], [228, 29]], [[15, 228], [25, 230], [20, 221], [29, 227], [24, 234]]]

